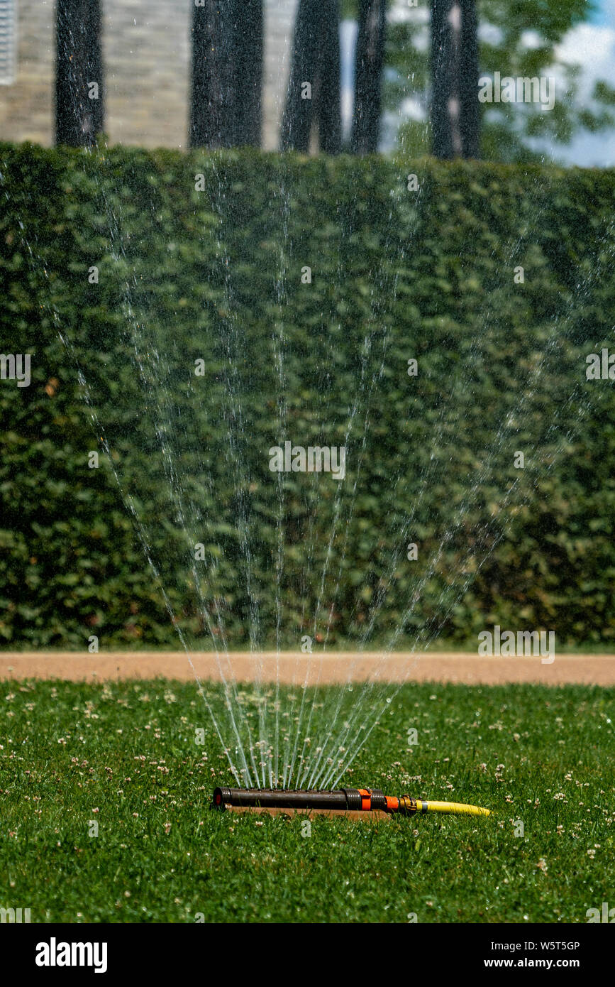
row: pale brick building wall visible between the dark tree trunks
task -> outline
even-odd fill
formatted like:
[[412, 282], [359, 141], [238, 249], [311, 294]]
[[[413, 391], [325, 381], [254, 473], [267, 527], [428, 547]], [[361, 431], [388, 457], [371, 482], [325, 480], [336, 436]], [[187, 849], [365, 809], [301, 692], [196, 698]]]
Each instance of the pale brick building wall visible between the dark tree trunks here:
[[[53, 141], [54, 0], [17, 7], [14, 82], [0, 85], [0, 137]], [[263, 147], [278, 146], [298, 0], [265, 0]], [[102, 0], [105, 131], [112, 143], [185, 147], [190, 0]]]

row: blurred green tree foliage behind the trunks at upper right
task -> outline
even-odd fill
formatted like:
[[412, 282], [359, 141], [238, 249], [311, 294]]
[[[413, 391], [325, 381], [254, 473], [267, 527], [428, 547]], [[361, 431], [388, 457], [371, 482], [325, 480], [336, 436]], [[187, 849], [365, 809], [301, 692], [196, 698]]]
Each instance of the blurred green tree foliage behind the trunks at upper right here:
[[[430, 153], [431, 6], [388, 0], [385, 37], [383, 140], [413, 157]], [[578, 134], [615, 125], [615, 90], [597, 80], [581, 92], [579, 67], [558, 51], [566, 35], [589, 23], [591, 0], [477, 0], [479, 75], [553, 76], [556, 102], [543, 113], [533, 104], [481, 104], [481, 157], [509, 163], [559, 160], [554, 145], [565, 147]], [[342, 0], [341, 17], [356, 20], [359, 0]]]

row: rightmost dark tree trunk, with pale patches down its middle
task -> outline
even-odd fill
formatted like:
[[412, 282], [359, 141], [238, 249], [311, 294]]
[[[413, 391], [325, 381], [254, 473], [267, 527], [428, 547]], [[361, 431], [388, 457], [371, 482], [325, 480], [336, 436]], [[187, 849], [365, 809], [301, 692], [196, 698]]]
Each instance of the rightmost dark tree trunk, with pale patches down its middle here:
[[432, 0], [432, 150], [476, 158], [479, 149], [475, 0]]

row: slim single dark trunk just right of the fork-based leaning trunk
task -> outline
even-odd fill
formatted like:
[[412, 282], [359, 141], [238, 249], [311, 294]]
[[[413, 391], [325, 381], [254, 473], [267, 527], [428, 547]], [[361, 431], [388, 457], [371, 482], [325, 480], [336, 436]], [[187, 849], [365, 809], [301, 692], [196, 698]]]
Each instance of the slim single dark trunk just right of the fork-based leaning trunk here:
[[351, 149], [355, 154], [377, 150], [380, 133], [380, 82], [384, 61], [386, 0], [360, 0], [355, 69], [355, 111]]

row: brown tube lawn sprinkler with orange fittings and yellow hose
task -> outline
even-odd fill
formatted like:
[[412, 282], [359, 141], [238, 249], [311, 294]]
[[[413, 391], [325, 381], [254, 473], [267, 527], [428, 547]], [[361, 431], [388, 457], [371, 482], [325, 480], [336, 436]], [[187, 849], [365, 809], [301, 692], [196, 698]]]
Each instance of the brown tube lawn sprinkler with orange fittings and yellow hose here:
[[212, 808], [279, 808], [324, 811], [379, 810], [401, 815], [426, 812], [450, 812], [454, 815], [489, 815], [488, 808], [464, 805], [463, 802], [425, 801], [410, 796], [385, 796], [379, 789], [338, 789], [334, 792], [286, 791], [285, 789], [227, 789], [214, 792]]

